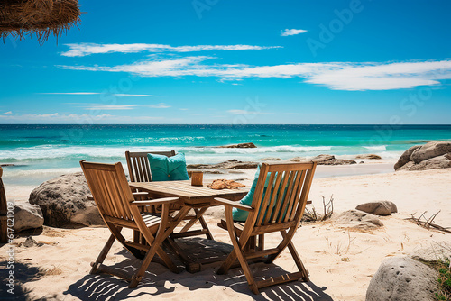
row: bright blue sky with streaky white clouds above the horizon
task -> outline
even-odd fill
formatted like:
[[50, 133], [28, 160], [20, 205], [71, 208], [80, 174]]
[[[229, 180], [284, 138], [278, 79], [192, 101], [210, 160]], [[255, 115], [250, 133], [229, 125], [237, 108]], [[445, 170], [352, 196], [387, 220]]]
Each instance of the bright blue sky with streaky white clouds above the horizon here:
[[449, 1], [85, 1], [0, 44], [0, 123], [450, 123]]

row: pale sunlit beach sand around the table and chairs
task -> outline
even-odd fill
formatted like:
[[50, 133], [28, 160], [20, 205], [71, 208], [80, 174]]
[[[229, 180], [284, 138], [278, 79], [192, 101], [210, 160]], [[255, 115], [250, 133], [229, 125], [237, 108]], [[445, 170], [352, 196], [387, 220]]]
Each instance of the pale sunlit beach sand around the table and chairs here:
[[[152, 263], [145, 283], [133, 290], [118, 278], [89, 275], [89, 262], [96, 259], [109, 235], [105, 228], [45, 227], [43, 233], [34, 236], [36, 241], [47, 242], [43, 246], [16, 247], [16, 273], [25, 275], [26, 270], [34, 273], [31, 268], [19, 270], [23, 264], [47, 269], [44, 276], [37, 279], [26, 280], [23, 276], [22, 288], [30, 290], [32, 299], [45, 296], [57, 300], [147, 300], [150, 297], [167, 300], [364, 300], [370, 279], [385, 258], [413, 254], [437, 242], [451, 243], [449, 233], [428, 231], [404, 220], [414, 212], [433, 214], [441, 209], [437, 223], [451, 226], [450, 179], [451, 169], [316, 178], [309, 199], [318, 209], [322, 207], [321, 196], [328, 198], [334, 194], [336, 212], [354, 209], [355, 205], [365, 202], [390, 200], [398, 205], [400, 214], [382, 217], [385, 226], [373, 233], [347, 231], [334, 223], [304, 225], [294, 242], [310, 272], [311, 282], [264, 288], [260, 296], [250, 292], [241, 269], [232, 269], [224, 276], [216, 275], [217, 263], [204, 266], [197, 274], [187, 271], [173, 274], [158, 263]], [[217, 210], [208, 214], [207, 223], [218, 242], [229, 243], [226, 231], [216, 226], [216, 215]], [[266, 242], [271, 245], [277, 243], [278, 238], [278, 234], [268, 235]], [[24, 238], [15, 240], [16, 243], [23, 241]], [[0, 248], [2, 261], [5, 250], [6, 246]], [[139, 261], [133, 260], [115, 242], [106, 264], [117, 264], [132, 271], [139, 266]], [[275, 264], [258, 264], [252, 268], [262, 275], [277, 273], [278, 267], [289, 271], [295, 268], [289, 251], [284, 251]]]

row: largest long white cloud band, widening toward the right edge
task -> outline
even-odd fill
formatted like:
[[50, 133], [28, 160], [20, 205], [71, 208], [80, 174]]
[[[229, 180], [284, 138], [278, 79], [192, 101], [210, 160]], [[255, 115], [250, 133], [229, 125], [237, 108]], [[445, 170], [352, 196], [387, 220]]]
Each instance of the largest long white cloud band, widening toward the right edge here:
[[333, 90], [390, 90], [439, 85], [451, 78], [451, 60], [407, 62], [328, 62], [275, 66], [207, 64], [204, 56], [146, 60], [114, 67], [58, 66], [58, 68], [127, 72], [142, 77], [304, 78]]

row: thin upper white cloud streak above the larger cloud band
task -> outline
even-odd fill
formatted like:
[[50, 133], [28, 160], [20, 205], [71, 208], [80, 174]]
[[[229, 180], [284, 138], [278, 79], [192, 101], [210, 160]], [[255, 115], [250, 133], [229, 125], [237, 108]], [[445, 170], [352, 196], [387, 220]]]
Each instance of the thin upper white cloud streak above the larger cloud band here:
[[148, 52], [194, 52], [210, 50], [268, 50], [281, 48], [281, 46], [253, 46], [253, 45], [196, 45], [196, 46], [170, 46], [162, 44], [96, 44], [79, 43], [65, 44], [69, 50], [62, 52], [65, 57], [84, 57], [90, 54], [98, 53], [136, 53], [142, 51]]

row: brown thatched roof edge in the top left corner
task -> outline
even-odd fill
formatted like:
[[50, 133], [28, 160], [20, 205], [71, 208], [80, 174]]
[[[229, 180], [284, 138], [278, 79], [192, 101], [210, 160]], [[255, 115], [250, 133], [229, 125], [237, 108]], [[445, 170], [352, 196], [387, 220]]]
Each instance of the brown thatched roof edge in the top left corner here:
[[0, 37], [36, 34], [42, 43], [52, 33], [69, 32], [80, 20], [78, 0], [0, 0]]

